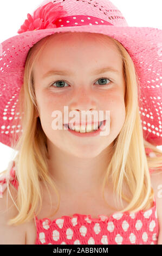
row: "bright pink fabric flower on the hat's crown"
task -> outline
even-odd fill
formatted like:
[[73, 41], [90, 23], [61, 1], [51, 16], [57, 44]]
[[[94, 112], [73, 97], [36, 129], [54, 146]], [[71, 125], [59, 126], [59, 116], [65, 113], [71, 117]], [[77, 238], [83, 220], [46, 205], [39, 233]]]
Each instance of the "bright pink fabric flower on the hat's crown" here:
[[49, 2], [37, 8], [33, 16], [28, 13], [28, 20], [24, 21], [17, 33], [21, 34], [26, 31], [35, 31], [44, 28], [56, 28], [55, 21], [65, 14], [67, 14], [67, 11], [63, 10], [60, 3]]

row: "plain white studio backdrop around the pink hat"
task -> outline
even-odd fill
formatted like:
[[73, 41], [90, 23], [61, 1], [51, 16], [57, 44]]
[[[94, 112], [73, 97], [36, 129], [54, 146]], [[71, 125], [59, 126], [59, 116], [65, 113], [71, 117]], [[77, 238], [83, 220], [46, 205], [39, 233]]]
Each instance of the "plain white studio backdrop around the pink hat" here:
[[[28, 13], [33, 13], [43, 1], [41, 0], [8, 0], [0, 2], [0, 43], [17, 35]], [[97, 1], [96, 1], [97, 2]], [[100, 2], [100, 0], [98, 0]], [[154, 27], [162, 29], [162, 1], [161, 0], [112, 0], [125, 16], [131, 27]], [[157, 148], [162, 150], [162, 145]], [[8, 167], [9, 159], [15, 156], [16, 151], [0, 143], [0, 173]]]

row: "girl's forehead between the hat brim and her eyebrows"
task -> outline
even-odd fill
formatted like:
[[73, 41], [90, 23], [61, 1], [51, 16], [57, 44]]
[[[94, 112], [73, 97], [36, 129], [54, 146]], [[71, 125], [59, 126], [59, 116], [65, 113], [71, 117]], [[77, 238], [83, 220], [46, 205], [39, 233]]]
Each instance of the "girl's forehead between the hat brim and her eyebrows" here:
[[108, 36], [105, 38], [94, 33], [57, 33], [50, 36], [35, 63], [35, 69], [67, 64], [83, 69], [86, 65], [93, 69], [95, 65], [111, 64], [122, 69], [121, 55], [115, 43]]

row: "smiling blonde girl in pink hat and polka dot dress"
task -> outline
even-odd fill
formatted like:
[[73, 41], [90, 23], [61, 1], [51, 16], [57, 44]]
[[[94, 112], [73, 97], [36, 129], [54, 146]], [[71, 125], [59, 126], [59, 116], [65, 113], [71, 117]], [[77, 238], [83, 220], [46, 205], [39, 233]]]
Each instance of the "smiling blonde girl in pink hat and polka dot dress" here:
[[[17, 155], [0, 177], [0, 243], [162, 244], [161, 31], [129, 27], [108, 0], [67, 0], [18, 34], [1, 44], [0, 138]], [[83, 111], [103, 112], [93, 131]]]

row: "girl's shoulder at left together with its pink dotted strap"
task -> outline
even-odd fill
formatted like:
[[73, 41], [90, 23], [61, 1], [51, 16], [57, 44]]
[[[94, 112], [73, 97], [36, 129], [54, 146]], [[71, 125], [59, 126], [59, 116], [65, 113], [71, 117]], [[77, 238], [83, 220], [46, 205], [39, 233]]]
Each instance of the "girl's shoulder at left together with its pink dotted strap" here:
[[[9, 190], [7, 179], [9, 178]], [[20, 225], [9, 225], [10, 219], [16, 217], [18, 209], [17, 204], [17, 182], [15, 180], [14, 168], [11, 168], [10, 174], [2, 172], [0, 174], [0, 244], [1, 245], [25, 245], [27, 223]], [[13, 202], [13, 200], [15, 202]]]

